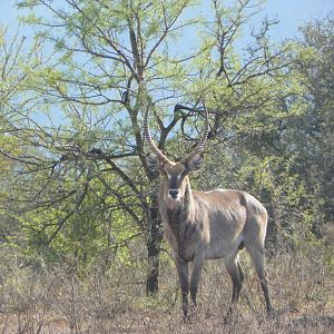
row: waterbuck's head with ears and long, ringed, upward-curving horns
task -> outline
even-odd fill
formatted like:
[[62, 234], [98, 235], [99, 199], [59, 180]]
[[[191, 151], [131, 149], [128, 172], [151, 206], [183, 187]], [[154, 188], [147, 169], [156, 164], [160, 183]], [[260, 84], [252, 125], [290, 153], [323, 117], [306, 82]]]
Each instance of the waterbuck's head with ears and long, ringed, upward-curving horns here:
[[155, 171], [160, 171], [164, 184], [164, 197], [173, 202], [180, 202], [188, 184], [188, 175], [198, 170], [203, 165], [203, 151], [208, 136], [208, 114], [205, 109], [205, 130], [198, 145], [180, 161], [170, 161], [153, 141], [148, 126], [148, 109], [144, 119], [144, 132], [147, 144], [153, 153], [146, 156], [147, 166]]

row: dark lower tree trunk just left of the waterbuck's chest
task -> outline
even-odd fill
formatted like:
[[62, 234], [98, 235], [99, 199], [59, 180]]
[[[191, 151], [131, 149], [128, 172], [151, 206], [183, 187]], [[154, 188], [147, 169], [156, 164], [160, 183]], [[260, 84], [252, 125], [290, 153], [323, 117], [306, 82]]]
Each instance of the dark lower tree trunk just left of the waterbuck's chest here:
[[149, 209], [148, 222], [148, 238], [147, 238], [147, 259], [148, 273], [146, 281], [146, 294], [155, 295], [159, 289], [159, 265], [160, 250], [163, 240], [163, 228], [159, 209], [157, 205], [157, 197], [154, 196], [153, 205]]

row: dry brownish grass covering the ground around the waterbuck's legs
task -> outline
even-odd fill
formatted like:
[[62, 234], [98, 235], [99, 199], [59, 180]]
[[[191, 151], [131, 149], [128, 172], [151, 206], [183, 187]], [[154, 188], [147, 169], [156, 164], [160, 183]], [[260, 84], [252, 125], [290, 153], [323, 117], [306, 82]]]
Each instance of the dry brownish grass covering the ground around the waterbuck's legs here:
[[230, 283], [220, 261], [206, 265], [196, 318], [183, 323], [175, 268], [164, 264], [157, 298], [144, 295], [144, 269], [116, 266], [78, 275], [71, 265], [3, 267], [0, 333], [331, 333], [333, 267], [323, 249], [281, 254], [267, 264], [276, 314], [267, 318], [244, 256], [245, 285], [228, 324]]

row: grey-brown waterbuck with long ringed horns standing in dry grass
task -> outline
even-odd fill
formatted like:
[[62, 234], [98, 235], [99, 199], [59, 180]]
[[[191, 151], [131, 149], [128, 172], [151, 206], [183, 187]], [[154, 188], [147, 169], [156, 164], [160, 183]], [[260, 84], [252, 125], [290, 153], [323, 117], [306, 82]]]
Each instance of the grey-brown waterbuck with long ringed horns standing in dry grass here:
[[[148, 110], [144, 119], [145, 138], [153, 150], [146, 161], [150, 169], [160, 171], [159, 212], [165, 225], [165, 237], [171, 248], [181, 289], [183, 316], [190, 315], [188, 294], [194, 310], [205, 259], [223, 258], [233, 283], [232, 304], [238, 301], [244, 274], [238, 253], [246, 248], [258, 276], [267, 312], [272, 312], [268, 284], [264, 268], [264, 242], [267, 212], [253, 196], [242, 190], [193, 190], [188, 175], [203, 164], [203, 151], [208, 136], [208, 114], [205, 109], [205, 130], [196, 148], [180, 161], [170, 161], [155, 145]], [[189, 281], [189, 263], [193, 273]]]

